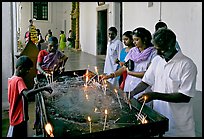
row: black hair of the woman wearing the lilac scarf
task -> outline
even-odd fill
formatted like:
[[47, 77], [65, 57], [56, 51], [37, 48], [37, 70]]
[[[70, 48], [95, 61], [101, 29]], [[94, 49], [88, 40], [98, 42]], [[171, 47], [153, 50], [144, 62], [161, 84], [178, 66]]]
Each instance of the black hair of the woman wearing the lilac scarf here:
[[136, 29], [133, 30], [133, 35], [140, 37], [142, 42], [146, 45], [146, 46], [151, 46], [151, 39], [152, 39], [152, 35], [150, 33], [149, 30], [143, 28], [143, 27], [138, 27]]

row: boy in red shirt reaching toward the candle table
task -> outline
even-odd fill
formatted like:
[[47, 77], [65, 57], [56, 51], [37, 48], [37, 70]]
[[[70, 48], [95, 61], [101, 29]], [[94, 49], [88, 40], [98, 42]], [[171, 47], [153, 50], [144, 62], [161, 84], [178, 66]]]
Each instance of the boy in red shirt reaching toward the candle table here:
[[10, 127], [7, 137], [27, 137], [28, 98], [43, 90], [51, 93], [50, 86], [28, 90], [24, 78], [33, 67], [28, 56], [21, 56], [16, 62], [14, 75], [8, 79], [8, 102]]

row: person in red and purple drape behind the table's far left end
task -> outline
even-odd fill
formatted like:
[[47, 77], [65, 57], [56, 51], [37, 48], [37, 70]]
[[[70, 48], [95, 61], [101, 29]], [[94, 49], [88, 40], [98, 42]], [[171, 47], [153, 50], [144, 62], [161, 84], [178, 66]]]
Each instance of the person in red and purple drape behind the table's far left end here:
[[41, 50], [37, 58], [38, 74], [48, 75], [51, 72], [61, 73], [68, 57], [58, 51], [58, 39], [50, 37], [47, 50]]

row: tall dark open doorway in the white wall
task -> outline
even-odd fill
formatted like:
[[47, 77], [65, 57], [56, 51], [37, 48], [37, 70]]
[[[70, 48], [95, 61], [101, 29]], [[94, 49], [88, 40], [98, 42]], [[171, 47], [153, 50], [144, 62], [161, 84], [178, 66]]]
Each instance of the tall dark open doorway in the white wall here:
[[106, 55], [107, 49], [107, 9], [97, 13], [97, 55]]

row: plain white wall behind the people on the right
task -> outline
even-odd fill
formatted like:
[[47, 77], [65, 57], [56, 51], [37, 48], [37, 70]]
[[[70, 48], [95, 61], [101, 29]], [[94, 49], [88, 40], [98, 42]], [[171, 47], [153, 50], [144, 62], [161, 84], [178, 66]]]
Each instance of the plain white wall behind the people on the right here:
[[[159, 6], [159, 2], [153, 2], [153, 7], [148, 7], [147, 2], [123, 2], [123, 32], [143, 26], [153, 33], [154, 25], [160, 19]], [[198, 90], [202, 90], [201, 12], [201, 2], [161, 3], [162, 21], [175, 32], [182, 52], [190, 57], [198, 68]]]

